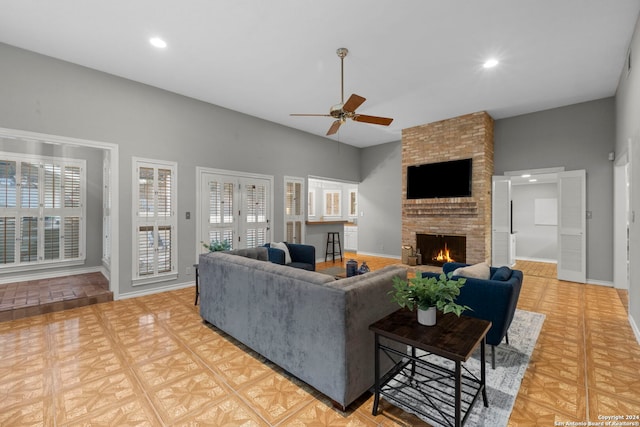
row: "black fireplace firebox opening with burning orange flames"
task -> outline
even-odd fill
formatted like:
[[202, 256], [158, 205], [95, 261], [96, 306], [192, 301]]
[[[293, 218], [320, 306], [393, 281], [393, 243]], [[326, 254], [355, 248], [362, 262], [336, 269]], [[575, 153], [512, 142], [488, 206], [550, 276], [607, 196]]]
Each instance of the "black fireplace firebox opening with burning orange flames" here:
[[466, 262], [467, 238], [443, 234], [416, 234], [416, 248], [425, 265], [442, 266], [445, 262]]

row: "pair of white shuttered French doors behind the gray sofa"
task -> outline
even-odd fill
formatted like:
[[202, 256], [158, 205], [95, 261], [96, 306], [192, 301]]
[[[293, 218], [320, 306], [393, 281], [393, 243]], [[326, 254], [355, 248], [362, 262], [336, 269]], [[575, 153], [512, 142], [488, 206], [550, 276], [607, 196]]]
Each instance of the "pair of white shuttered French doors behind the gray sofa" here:
[[226, 240], [232, 249], [271, 241], [272, 178], [198, 168], [197, 254], [202, 243]]

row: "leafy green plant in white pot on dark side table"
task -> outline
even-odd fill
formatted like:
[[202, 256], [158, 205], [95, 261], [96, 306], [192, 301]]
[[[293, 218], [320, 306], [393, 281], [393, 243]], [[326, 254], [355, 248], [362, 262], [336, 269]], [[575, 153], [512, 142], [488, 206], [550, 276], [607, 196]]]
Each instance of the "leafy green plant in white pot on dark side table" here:
[[460, 288], [464, 286], [466, 279], [452, 279], [452, 273], [442, 273], [436, 277], [416, 277], [403, 280], [393, 278], [392, 301], [400, 307], [413, 310], [418, 308], [418, 322], [433, 326], [436, 324], [436, 309], [443, 313], [455, 313], [458, 317], [464, 310], [470, 310], [466, 305], [456, 304], [456, 298], [460, 295]]

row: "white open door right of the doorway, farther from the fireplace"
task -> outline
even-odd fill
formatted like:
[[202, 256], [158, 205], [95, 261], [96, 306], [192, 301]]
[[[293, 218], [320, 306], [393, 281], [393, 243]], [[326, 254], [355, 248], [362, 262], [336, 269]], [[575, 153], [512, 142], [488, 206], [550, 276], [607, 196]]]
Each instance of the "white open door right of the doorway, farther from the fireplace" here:
[[586, 172], [558, 173], [558, 279], [587, 280]]

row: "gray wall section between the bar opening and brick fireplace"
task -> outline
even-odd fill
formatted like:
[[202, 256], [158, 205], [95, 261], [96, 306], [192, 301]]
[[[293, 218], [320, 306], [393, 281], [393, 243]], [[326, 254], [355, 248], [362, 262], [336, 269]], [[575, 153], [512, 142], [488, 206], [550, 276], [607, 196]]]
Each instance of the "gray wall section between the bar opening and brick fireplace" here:
[[362, 149], [358, 186], [358, 252], [401, 256], [402, 145], [390, 142]]

